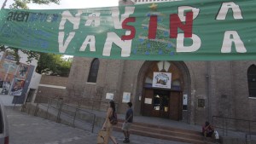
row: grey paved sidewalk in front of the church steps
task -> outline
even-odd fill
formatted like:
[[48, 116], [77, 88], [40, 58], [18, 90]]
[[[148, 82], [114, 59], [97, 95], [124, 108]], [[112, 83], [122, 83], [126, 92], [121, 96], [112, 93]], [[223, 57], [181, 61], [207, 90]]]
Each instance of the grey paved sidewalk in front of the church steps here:
[[[9, 144], [96, 144], [96, 133], [58, 124], [26, 112], [6, 107], [9, 120]], [[96, 130], [100, 128], [97, 127]], [[123, 134], [113, 132], [119, 143]], [[109, 142], [111, 143], [111, 142]], [[131, 144], [186, 144], [131, 135]]]

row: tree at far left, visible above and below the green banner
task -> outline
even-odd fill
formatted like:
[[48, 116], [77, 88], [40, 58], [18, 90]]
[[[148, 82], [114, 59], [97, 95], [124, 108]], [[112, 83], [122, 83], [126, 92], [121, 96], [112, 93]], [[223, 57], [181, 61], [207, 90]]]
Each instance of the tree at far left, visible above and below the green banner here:
[[[9, 8], [10, 9], [28, 9], [28, 6], [27, 6], [28, 3], [38, 3], [38, 4], [56, 3], [56, 4], [59, 4], [60, 0], [15, 0], [15, 3], [10, 5]], [[7, 49], [10, 49], [10, 51], [15, 56], [15, 60], [16, 60], [17, 64], [19, 64], [19, 61], [20, 61], [20, 56], [18, 55], [19, 50], [27, 55], [26, 62], [28, 62], [28, 63], [30, 63], [34, 59], [38, 60], [39, 55], [42, 54], [42, 53], [31, 51], [31, 50], [19, 49], [19, 48], [4, 46], [4, 45], [0, 44], [0, 52], [5, 51]]]

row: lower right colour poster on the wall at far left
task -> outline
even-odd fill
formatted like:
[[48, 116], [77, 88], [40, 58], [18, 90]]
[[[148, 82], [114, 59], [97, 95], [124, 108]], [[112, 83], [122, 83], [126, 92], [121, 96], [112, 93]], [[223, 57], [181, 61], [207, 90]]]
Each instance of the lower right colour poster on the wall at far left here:
[[11, 89], [9, 95], [19, 95], [20, 96], [22, 94], [24, 84], [25, 84], [24, 79], [15, 78], [14, 84], [12, 86], [12, 89]]

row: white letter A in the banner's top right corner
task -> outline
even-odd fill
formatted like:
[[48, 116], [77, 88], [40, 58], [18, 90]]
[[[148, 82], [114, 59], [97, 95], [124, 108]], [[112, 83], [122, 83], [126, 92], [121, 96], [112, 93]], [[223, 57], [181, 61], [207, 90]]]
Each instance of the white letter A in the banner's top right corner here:
[[234, 19], [243, 19], [241, 16], [241, 9], [239, 8], [239, 5], [236, 5], [236, 3], [234, 2], [228, 2], [222, 3], [216, 20], [225, 20], [229, 9], [232, 9]]

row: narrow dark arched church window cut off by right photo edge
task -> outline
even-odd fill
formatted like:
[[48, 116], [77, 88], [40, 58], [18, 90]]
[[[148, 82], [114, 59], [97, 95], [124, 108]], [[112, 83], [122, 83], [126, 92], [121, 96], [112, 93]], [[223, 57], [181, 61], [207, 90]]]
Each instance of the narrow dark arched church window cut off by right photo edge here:
[[252, 65], [247, 70], [249, 97], [256, 97], [256, 66]]

